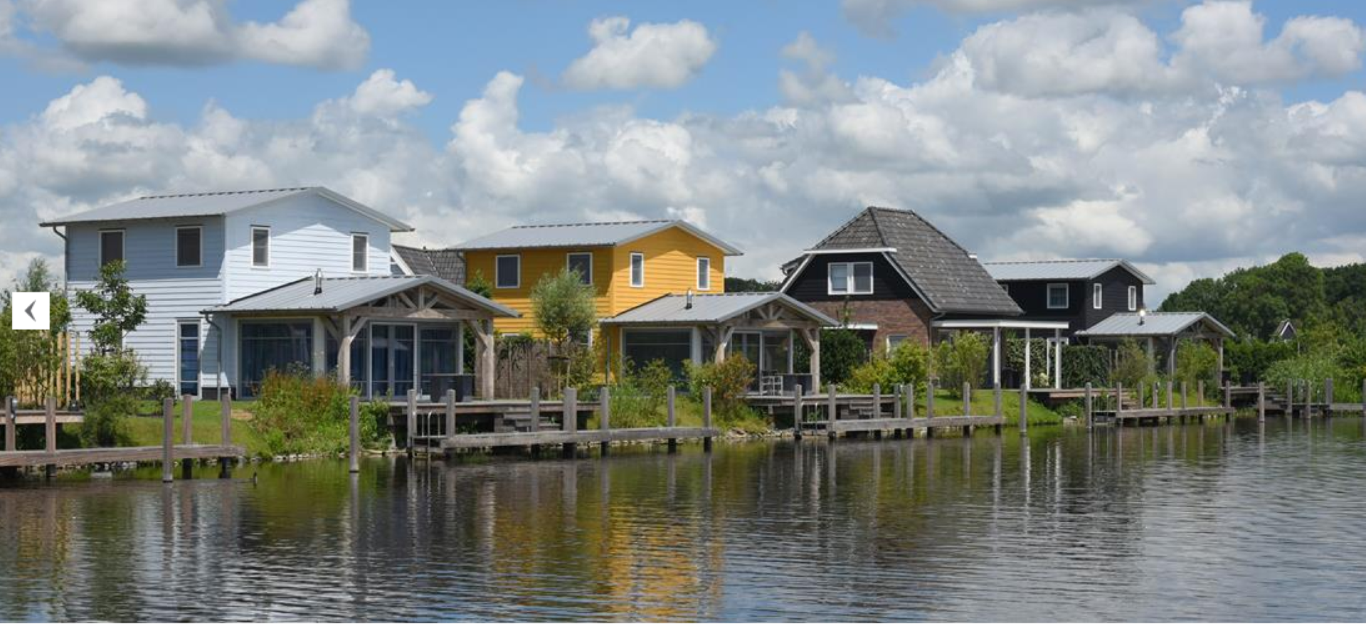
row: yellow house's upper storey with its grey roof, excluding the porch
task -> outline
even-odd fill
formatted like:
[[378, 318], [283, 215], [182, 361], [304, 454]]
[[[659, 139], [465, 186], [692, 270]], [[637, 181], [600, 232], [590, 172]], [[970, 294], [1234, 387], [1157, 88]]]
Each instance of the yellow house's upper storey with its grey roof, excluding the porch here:
[[497, 318], [504, 334], [537, 335], [531, 287], [570, 268], [597, 294], [600, 318], [668, 294], [725, 291], [725, 257], [740, 250], [682, 220], [515, 226], [454, 247], [466, 284], [492, 286], [493, 301], [522, 313]]

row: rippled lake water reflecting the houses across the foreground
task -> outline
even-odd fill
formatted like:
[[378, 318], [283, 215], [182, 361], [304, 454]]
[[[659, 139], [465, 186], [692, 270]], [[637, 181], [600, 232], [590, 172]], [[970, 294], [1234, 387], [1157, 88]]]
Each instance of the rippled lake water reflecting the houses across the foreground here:
[[1361, 621], [1363, 428], [25, 482], [0, 489], [0, 619]]

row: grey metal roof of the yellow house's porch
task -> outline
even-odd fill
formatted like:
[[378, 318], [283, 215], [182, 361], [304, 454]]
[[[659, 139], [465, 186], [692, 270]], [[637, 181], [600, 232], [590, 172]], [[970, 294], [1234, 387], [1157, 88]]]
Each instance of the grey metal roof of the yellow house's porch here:
[[604, 324], [714, 324], [742, 316], [750, 310], [769, 302], [788, 306], [821, 325], [839, 325], [825, 313], [821, 313], [795, 298], [780, 292], [735, 292], [735, 294], [693, 294], [693, 306], [687, 305], [687, 295], [663, 295], [634, 309], [622, 312], [615, 317], [602, 320]]

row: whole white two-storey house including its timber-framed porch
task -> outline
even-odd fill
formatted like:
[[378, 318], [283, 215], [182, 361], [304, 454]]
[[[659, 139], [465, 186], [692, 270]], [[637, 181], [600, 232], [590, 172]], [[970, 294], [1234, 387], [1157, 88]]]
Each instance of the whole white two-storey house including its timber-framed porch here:
[[[148, 299], [124, 347], [152, 380], [201, 398], [250, 396], [265, 372], [284, 368], [402, 395], [423, 385], [423, 362], [456, 373], [456, 354], [437, 354], [460, 342], [441, 343], [419, 321], [449, 335], [515, 314], [440, 279], [395, 283], [389, 236], [411, 228], [324, 187], [148, 195], [42, 226], [64, 238], [70, 294], [93, 288], [102, 265], [124, 262], [130, 288]], [[231, 306], [242, 302], [251, 305]], [[93, 324], [74, 308], [72, 331]], [[359, 370], [343, 344], [365, 346]]]

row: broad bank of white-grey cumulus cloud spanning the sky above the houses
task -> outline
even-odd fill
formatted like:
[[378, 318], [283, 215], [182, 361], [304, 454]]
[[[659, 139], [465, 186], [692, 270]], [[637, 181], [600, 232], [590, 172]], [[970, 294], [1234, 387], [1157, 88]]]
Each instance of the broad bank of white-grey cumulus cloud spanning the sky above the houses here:
[[[1096, 15], [1078, 31], [1142, 40], [1132, 22]], [[974, 45], [918, 81], [850, 81], [841, 98], [673, 119], [604, 107], [538, 130], [520, 123], [525, 79], [499, 72], [437, 144], [403, 115], [429, 98], [388, 71], [301, 119], [209, 103], [189, 124], [101, 77], [0, 127], [0, 210], [12, 224], [0, 230], [0, 283], [16, 271], [7, 264], [56, 260], [60, 241], [40, 219], [146, 191], [281, 185], [331, 186], [433, 246], [514, 223], [683, 216], [747, 251], [732, 273], [765, 277], [862, 206], [904, 206], [982, 258], [1131, 258], [1160, 282], [1154, 305], [1194, 276], [1288, 250], [1351, 258], [1366, 241], [1358, 90], [1285, 101], [1172, 57], [1164, 67], [1184, 82], [1165, 89], [1108, 68], [1086, 89], [1022, 96], [1030, 82], [984, 83]], [[807, 38], [785, 53], [831, 71], [833, 56]], [[1037, 63], [1018, 71], [1061, 79]]]

